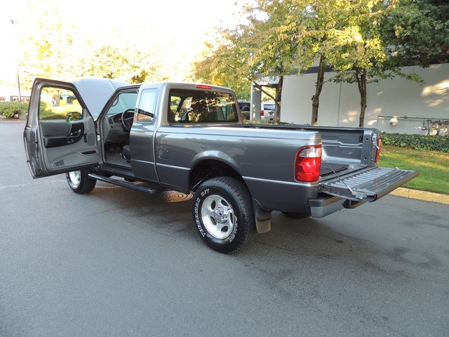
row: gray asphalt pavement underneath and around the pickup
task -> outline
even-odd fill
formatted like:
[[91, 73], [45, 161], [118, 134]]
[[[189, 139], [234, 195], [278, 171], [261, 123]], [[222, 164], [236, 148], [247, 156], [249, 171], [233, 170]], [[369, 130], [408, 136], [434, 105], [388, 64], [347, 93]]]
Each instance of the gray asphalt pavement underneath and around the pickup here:
[[222, 255], [183, 194], [33, 180], [23, 126], [0, 122], [0, 336], [449, 336], [446, 204], [276, 212]]

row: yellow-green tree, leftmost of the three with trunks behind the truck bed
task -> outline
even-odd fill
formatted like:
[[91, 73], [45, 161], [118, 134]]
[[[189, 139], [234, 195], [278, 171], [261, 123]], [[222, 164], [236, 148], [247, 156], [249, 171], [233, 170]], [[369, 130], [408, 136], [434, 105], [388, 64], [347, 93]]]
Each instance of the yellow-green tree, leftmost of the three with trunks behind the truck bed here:
[[[281, 113], [283, 77], [297, 72], [297, 41], [294, 31], [297, 11], [295, 0], [257, 0], [243, 6], [245, 23], [236, 29], [219, 29], [219, 46], [196, 62], [196, 77], [215, 84], [229, 83], [232, 88], [253, 84], [276, 103], [276, 121]], [[306, 1], [299, 1], [306, 3]], [[302, 6], [305, 8], [305, 5]], [[211, 45], [209, 45], [210, 47]], [[309, 61], [307, 67], [313, 60]], [[258, 83], [260, 77], [278, 77], [276, 94]]]

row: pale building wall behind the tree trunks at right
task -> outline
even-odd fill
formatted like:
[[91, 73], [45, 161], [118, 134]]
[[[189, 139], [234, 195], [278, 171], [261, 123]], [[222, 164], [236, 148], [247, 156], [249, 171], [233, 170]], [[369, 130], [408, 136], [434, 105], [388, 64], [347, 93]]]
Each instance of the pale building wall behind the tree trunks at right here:
[[[389, 133], [423, 134], [423, 121], [449, 121], [449, 64], [429, 68], [406, 67], [404, 72], [417, 72], [424, 79], [420, 86], [401, 77], [368, 84], [368, 107], [365, 127]], [[333, 73], [326, 73], [330, 79]], [[281, 121], [311, 123], [311, 97], [315, 92], [316, 73], [285, 77], [282, 93]], [[357, 127], [360, 95], [357, 84], [326, 82], [320, 95], [320, 126]], [[390, 125], [391, 117], [397, 124]]]

